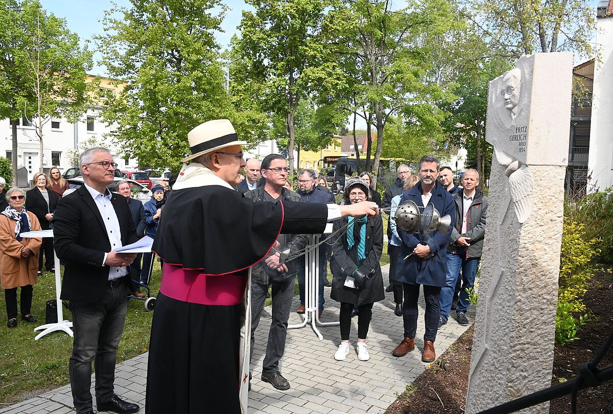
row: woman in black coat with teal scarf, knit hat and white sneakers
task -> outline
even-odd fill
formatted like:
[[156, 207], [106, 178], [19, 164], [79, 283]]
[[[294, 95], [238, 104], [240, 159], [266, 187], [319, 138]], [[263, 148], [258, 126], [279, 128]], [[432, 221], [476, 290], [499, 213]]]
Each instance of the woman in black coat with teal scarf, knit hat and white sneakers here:
[[[345, 183], [345, 204], [356, 204], [368, 198], [368, 185], [359, 178]], [[359, 309], [357, 319], [357, 358], [368, 361], [366, 336], [370, 327], [373, 303], [383, 300], [383, 277], [379, 259], [383, 252], [383, 221], [381, 216], [337, 220], [333, 232], [351, 220], [348, 231], [332, 246], [332, 292], [330, 297], [341, 303], [341, 344], [334, 359], [342, 361], [349, 353], [349, 331], [354, 305]], [[351, 284], [353, 283], [353, 284]], [[348, 286], [349, 285], [349, 286]]]

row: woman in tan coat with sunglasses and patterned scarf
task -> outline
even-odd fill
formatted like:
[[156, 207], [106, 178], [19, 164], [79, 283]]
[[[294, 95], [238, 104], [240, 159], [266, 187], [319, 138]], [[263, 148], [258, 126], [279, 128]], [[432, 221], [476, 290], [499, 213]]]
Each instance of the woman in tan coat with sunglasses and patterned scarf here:
[[30, 308], [42, 238], [21, 238], [23, 232], [40, 230], [36, 216], [23, 207], [25, 198], [21, 188], [11, 188], [6, 194], [9, 207], [0, 212], [0, 250], [4, 253], [0, 284], [4, 289], [9, 328], [17, 327], [17, 287], [21, 287], [21, 319], [36, 322]]

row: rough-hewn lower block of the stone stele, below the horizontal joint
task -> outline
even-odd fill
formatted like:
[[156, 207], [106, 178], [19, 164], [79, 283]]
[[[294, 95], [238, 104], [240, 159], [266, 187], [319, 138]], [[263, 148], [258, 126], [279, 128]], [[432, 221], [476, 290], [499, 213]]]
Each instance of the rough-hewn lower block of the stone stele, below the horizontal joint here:
[[[530, 166], [531, 213], [520, 224], [505, 166], [492, 161], [466, 413], [547, 388], [554, 360], [564, 166]], [[546, 414], [549, 403], [522, 413]]]

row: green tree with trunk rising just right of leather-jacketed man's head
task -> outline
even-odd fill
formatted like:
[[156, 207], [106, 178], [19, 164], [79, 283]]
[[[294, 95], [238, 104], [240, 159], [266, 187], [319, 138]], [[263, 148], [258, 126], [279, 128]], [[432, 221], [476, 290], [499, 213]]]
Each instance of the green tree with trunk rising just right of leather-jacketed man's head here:
[[340, 78], [327, 41], [337, 23], [332, 1], [248, 0], [255, 11], [243, 11], [240, 50], [246, 74], [261, 86], [267, 113], [283, 117], [289, 168], [294, 168], [300, 101], [324, 95]]

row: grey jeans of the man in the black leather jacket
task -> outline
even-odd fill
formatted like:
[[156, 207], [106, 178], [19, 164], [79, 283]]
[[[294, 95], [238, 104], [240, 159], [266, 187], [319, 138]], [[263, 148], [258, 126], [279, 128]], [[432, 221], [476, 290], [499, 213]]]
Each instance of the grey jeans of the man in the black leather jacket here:
[[[295, 276], [272, 283], [272, 323], [268, 331], [268, 343], [262, 371], [279, 371], [279, 361], [285, 351], [287, 319], [294, 298]], [[267, 284], [251, 283], [251, 357], [255, 344], [254, 333], [262, 316], [262, 308], [268, 292]]]

